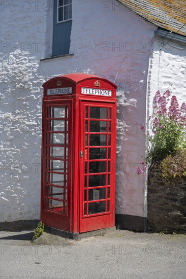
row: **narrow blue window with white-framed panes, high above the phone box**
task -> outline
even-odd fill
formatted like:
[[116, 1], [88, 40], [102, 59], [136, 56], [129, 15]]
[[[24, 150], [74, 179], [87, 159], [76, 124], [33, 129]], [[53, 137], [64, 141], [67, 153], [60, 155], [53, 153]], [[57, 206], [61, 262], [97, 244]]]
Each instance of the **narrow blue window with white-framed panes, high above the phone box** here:
[[52, 56], [69, 54], [72, 0], [54, 0]]

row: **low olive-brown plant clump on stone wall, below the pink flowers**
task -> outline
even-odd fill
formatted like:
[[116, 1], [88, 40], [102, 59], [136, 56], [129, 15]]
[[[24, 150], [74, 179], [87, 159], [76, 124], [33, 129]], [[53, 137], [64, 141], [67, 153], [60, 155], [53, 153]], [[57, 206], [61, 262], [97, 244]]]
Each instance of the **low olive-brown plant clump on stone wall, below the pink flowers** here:
[[163, 180], [171, 185], [174, 185], [176, 180], [186, 180], [186, 149], [168, 155], [162, 160], [159, 170]]

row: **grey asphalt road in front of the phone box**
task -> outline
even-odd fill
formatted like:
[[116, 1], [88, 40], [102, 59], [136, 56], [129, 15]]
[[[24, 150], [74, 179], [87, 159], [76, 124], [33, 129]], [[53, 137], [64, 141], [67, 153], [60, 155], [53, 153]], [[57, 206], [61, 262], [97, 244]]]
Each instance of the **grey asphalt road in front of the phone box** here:
[[1, 279], [186, 278], [184, 235], [116, 230], [81, 240], [50, 238], [52, 245], [33, 245], [32, 236], [1, 232]]

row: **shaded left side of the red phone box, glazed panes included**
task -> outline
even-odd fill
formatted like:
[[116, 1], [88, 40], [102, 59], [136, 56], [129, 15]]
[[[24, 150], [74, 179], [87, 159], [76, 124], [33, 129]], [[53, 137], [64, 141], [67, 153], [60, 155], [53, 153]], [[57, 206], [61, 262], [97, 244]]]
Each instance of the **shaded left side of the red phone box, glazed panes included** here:
[[72, 100], [44, 101], [41, 220], [70, 230]]

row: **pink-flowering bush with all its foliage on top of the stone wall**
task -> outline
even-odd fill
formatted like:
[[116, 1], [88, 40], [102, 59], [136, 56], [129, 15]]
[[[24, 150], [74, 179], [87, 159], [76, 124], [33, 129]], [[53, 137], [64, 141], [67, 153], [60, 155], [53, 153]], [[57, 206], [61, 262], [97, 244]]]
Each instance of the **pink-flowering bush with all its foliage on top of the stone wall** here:
[[[146, 163], [150, 170], [159, 169], [165, 181], [174, 184], [177, 179], [186, 178], [186, 104], [181, 107], [176, 96], [169, 97], [166, 90], [163, 95], [157, 91], [153, 98], [153, 113], [149, 117], [149, 132], [146, 134], [149, 146]], [[168, 103], [170, 101], [170, 106]], [[145, 132], [145, 127], [141, 126]], [[144, 175], [146, 166], [137, 168], [138, 175]]]

